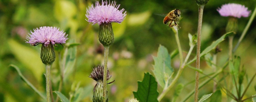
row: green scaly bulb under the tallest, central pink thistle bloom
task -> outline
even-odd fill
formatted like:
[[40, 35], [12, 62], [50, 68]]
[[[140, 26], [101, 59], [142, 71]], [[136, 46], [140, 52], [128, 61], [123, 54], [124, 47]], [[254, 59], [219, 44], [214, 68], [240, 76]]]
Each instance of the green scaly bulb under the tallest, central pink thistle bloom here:
[[101, 23], [99, 41], [103, 46], [109, 46], [114, 41], [114, 33], [111, 23]]

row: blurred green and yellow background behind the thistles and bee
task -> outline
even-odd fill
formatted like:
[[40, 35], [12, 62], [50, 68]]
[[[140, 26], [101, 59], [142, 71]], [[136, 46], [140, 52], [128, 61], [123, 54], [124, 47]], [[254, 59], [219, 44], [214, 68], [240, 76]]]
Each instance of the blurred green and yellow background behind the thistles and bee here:
[[[197, 32], [198, 7], [193, 0], [116, 0], [120, 8], [127, 11], [127, 16], [121, 24], [112, 23], [115, 35], [110, 46], [108, 68], [112, 74], [113, 84], [108, 85], [110, 102], [128, 102], [133, 98], [132, 91], [137, 91], [137, 81], [142, 80], [144, 72], [152, 73], [153, 56], [156, 56], [159, 44], [167, 47], [171, 53], [177, 48], [174, 34], [163, 24], [163, 16], [173, 9], [181, 10], [182, 19], [179, 36], [185, 56], [189, 49], [188, 33]], [[10, 64], [17, 65], [22, 74], [41, 92], [45, 91], [45, 68], [40, 60], [40, 47], [25, 43], [30, 31], [40, 26], [56, 26], [68, 34], [67, 44], [79, 43], [70, 49], [56, 47], [56, 60], [52, 65], [53, 91], [58, 90], [60, 81], [60, 66], [65, 50], [68, 50], [62, 93], [70, 98], [75, 97], [78, 87], [83, 96], [82, 102], [92, 101], [92, 89], [95, 81], [89, 78], [92, 67], [103, 63], [103, 46], [98, 41], [99, 25], [92, 25], [85, 19], [86, 8], [94, 4], [94, 0], [0, 0], [0, 102], [38, 102], [42, 101], [26, 83], [24, 83]], [[204, 7], [202, 28], [202, 50], [225, 33], [227, 17], [221, 17], [216, 11], [226, 3], [243, 4], [252, 10], [255, 0], [210, 0]], [[248, 18], [239, 19], [239, 30], [235, 35], [236, 44]], [[256, 21], [252, 22], [245, 39], [235, 55], [242, 58], [242, 64], [251, 78], [256, 70]], [[66, 45], [67, 45], [66, 44]], [[64, 44], [65, 45], [65, 44]], [[218, 66], [222, 66], [228, 58], [228, 41], [220, 43], [222, 52], [218, 54]], [[196, 54], [195, 49], [192, 57]], [[191, 58], [192, 58], [191, 57]], [[194, 64], [192, 64], [194, 66]], [[179, 67], [179, 57], [172, 59], [172, 67]], [[211, 73], [212, 69], [202, 60], [201, 69]], [[186, 84], [193, 80], [195, 71], [186, 68], [178, 83]], [[80, 84], [79, 84], [80, 83]], [[212, 93], [212, 84], [206, 84], [199, 90], [199, 97]], [[252, 83], [246, 96], [256, 92]], [[163, 89], [158, 87], [159, 92]], [[182, 99], [194, 89], [194, 83], [185, 86], [181, 92]], [[173, 90], [169, 91], [162, 102], [170, 102]], [[56, 94], [54, 93], [54, 98]], [[223, 95], [223, 100], [226, 96]], [[178, 99], [178, 100], [179, 100]], [[193, 101], [190, 98], [188, 101]]]

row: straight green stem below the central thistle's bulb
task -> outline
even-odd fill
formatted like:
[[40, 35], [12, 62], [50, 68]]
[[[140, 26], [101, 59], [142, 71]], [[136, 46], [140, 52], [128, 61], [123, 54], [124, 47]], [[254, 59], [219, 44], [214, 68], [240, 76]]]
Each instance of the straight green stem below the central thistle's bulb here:
[[107, 69], [108, 69], [108, 50], [109, 46], [104, 46], [104, 71], [103, 71], [103, 102], [106, 102], [107, 97]]

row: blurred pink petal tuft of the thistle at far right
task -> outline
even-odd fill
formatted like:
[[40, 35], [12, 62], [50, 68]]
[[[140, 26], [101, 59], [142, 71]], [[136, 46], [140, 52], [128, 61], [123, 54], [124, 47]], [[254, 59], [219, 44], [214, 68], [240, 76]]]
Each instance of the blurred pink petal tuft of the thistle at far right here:
[[248, 11], [248, 8], [241, 4], [224, 4], [221, 6], [221, 8], [218, 8], [217, 11], [220, 13], [221, 16], [228, 17], [236, 17], [241, 18], [248, 17], [251, 11]]

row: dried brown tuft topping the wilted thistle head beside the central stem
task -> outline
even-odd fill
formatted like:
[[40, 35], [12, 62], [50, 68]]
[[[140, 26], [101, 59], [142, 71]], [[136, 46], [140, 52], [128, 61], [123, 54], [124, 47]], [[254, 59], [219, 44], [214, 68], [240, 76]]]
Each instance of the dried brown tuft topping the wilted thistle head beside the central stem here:
[[[89, 77], [91, 77], [95, 81], [103, 81], [103, 70], [104, 66], [103, 65], [98, 65], [95, 66], [92, 69], [92, 73], [90, 74]], [[107, 70], [107, 80], [111, 78], [111, 75], [109, 74], [109, 71]]]

